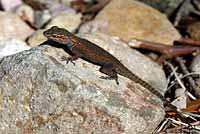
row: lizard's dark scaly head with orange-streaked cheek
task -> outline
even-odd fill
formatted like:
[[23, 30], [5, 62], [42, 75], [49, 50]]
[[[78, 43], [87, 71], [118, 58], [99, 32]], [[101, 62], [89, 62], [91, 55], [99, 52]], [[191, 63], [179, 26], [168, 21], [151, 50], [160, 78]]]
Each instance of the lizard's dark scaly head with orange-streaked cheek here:
[[70, 36], [72, 35], [69, 31], [64, 28], [59, 28], [53, 26], [50, 29], [43, 32], [44, 36], [48, 39], [59, 42], [61, 44], [66, 44], [70, 41]]

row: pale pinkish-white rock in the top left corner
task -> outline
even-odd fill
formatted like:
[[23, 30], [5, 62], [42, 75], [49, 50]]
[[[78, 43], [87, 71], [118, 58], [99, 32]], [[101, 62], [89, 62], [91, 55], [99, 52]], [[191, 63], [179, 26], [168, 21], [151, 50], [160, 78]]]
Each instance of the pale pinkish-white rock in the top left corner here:
[[0, 1], [2, 8], [5, 11], [11, 11], [15, 7], [22, 4], [21, 0], [1, 0]]

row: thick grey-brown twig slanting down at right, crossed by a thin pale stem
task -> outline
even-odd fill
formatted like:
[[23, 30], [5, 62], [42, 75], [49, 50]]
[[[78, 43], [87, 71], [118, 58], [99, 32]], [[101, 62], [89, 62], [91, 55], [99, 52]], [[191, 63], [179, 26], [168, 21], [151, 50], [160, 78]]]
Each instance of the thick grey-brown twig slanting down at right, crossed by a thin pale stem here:
[[[176, 59], [176, 61], [179, 63], [179, 65], [180, 65], [180, 67], [181, 67], [181, 70], [183, 71], [183, 74], [184, 74], [184, 75], [189, 74], [189, 71], [188, 71], [188, 69], [186, 68], [186, 66], [185, 66], [185, 64], [184, 64], [183, 59], [182, 59], [181, 57], [176, 57], [175, 59]], [[188, 79], [188, 82], [190, 83], [192, 89], [195, 91], [195, 95], [198, 96], [198, 97], [200, 97], [200, 93], [199, 93], [199, 91], [197, 91], [195, 82], [194, 82], [194, 80], [192, 79], [192, 77], [191, 77], [191, 76], [188, 76], [187, 79]]]

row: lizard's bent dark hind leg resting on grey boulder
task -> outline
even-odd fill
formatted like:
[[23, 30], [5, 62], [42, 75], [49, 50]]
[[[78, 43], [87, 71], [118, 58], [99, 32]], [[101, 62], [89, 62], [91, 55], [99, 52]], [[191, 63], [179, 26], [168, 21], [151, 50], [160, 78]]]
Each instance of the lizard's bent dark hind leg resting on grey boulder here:
[[119, 85], [118, 76], [117, 76], [117, 73], [115, 72], [112, 64], [107, 64], [107, 65], [102, 66], [99, 69], [99, 71], [101, 73], [104, 73], [109, 76], [109, 77], [101, 77], [101, 78], [114, 79], [116, 81], [117, 85]]

